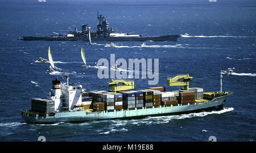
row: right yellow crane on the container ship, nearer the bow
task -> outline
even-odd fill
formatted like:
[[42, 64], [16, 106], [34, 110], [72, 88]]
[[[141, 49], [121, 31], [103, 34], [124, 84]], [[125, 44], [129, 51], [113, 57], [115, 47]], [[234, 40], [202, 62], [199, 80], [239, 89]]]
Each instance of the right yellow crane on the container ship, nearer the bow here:
[[[180, 78], [183, 78], [183, 81], [179, 81]], [[183, 86], [185, 90], [189, 90], [189, 83], [188, 81], [191, 81], [193, 77], [190, 77], [187, 75], [177, 75], [172, 78], [167, 78], [167, 85], [168, 86]]]

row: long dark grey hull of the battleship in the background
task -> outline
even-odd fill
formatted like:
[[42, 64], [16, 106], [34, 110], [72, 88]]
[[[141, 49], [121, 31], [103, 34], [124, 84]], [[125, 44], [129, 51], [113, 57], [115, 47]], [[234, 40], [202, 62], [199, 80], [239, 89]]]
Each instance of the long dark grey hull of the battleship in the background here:
[[[139, 37], [92, 37], [92, 42], [109, 41], [109, 42], [126, 42], [126, 41], [177, 41], [180, 35], [165, 35], [165, 36], [139, 36]], [[45, 40], [45, 41], [87, 41], [87, 37], [67, 37], [67, 36], [23, 36], [22, 40]]]

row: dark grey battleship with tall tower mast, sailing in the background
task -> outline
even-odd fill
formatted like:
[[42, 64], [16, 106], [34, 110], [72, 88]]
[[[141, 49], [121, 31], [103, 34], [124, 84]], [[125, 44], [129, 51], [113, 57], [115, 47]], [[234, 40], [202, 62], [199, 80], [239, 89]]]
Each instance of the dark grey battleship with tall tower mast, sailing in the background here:
[[105, 16], [98, 14], [97, 19], [99, 21], [97, 25], [97, 31], [90, 30], [87, 24], [81, 26], [82, 31], [78, 31], [77, 28], [73, 31], [69, 31], [68, 34], [58, 34], [48, 36], [23, 36], [18, 40], [46, 40], [46, 41], [110, 41], [110, 42], [123, 42], [123, 41], [177, 41], [180, 35], [163, 35], [163, 36], [142, 36], [131, 35], [129, 33], [118, 33], [115, 28], [109, 27], [109, 22]]

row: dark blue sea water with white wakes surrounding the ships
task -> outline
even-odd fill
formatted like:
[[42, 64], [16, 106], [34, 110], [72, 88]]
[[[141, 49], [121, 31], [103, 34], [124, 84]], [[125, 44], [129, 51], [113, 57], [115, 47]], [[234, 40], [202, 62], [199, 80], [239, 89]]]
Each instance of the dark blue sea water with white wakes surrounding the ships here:
[[[88, 46], [85, 42], [19, 41], [23, 35], [67, 33], [87, 23], [96, 29], [100, 10], [110, 27], [120, 32], [144, 35], [183, 35], [177, 42], [117, 42], [115, 47]], [[56, 5], [47, 3], [0, 6], [0, 140], [37, 141], [255, 141], [255, 53], [256, 9], [238, 5]], [[105, 44], [108, 42], [97, 42]], [[30, 109], [30, 99], [46, 97], [51, 80], [47, 59], [51, 46], [53, 60], [70, 81], [87, 90], [108, 90], [109, 79], [99, 79], [97, 69], [82, 67], [81, 46], [93, 64], [110, 53], [123, 59], [159, 59], [159, 84], [179, 73], [193, 76], [191, 86], [205, 91], [220, 90], [220, 70], [235, 67], [236, 75], [224, 76], [224, 90], [233, 95], [224, 110], [147, 117], [132, 120], [92, 121], [32, 125], [24, 123], [20, 111]], [[60, 77], [59, 77], [60, 78]], [[38, 83], [32, 84], [31, 81]], [[148, 79], [135, 79], [135, 88], [145, 89]], [[178, 89], [167, 87], [168, 90]]]

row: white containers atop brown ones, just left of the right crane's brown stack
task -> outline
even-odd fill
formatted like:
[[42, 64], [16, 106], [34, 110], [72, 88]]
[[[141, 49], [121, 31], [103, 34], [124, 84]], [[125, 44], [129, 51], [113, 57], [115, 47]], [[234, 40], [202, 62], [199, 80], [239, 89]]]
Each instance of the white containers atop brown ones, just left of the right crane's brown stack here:
[[162, 92], [162, 105], [176, 105], [178, 104], [175, 92]]

